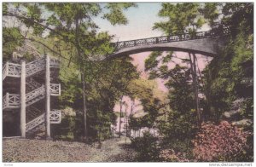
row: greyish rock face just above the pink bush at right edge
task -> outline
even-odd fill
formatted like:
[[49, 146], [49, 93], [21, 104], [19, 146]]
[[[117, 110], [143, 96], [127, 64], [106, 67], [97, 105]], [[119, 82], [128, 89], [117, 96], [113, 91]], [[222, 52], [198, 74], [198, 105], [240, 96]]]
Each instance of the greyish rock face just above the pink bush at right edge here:
[[246, 98], [240, 98], [232, 102], [232, 106], [229, 112], [224, 112], [223, 117], [229, 120], [232, 124], [240, 127], [247, 127], [253, 125], [253, 120], [249, 118], [242, 118], [243, 112], [242, 106], [246, 101]]

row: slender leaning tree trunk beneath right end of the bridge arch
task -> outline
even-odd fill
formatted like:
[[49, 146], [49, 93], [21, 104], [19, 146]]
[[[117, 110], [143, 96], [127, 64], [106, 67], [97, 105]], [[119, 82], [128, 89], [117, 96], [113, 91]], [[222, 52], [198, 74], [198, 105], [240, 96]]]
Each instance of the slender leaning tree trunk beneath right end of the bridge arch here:
[[197, 113], [197, 124], [198, 126], [200, 126], [201, 113], [200, 113], [199, 97], [198, 97], [198, 79], [197, 79], [197, 73], [196, 73], [195, 54], [192, 54], [192, 55], [193, 55], [193, 59], [192, 59], [191, 53], [189, 53], [189, 61], [190, 61], [191, 74], [192, 74], [193, 85], [194, 85], [194, 92], [195, 92], [195, 111]]

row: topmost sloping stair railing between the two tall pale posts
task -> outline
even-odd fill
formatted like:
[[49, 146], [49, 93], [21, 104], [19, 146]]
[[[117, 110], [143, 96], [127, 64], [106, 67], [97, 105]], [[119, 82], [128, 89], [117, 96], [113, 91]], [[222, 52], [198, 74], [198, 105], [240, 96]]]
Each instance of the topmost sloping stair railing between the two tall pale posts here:
[[45, 69], [45, 59], [40, 58], [38, 60], [33, 60], [26, 64], [26, 77], [32, 76], [37, 72], [41, 72]]

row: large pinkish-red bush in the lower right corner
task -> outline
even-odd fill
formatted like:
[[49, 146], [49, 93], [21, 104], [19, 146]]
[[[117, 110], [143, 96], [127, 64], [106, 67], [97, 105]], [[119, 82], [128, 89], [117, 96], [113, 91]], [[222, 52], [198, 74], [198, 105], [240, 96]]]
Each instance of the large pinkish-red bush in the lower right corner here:
[[248, 133], [222, 121], [219, 125], [202, 124], [193, 153], [199, 161], [234, 161], [246, 148]]

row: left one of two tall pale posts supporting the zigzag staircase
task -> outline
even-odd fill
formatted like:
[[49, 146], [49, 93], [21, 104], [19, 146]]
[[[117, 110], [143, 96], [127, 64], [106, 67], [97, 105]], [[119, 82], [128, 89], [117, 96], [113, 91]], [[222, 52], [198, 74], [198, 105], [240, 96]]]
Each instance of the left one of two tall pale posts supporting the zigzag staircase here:
[[21, 61], [20, 72], [20, 133], [26, 138], [26, 62]]

